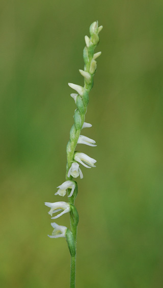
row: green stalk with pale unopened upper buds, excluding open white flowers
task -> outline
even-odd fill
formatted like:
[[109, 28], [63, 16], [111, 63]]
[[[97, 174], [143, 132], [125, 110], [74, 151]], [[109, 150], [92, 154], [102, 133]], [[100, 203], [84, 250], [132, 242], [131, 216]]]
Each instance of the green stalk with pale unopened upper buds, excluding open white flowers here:
[[[70, 131], [70, 140], [67, 144], [67, 166], [66, 166], [66, 181], [72, 180], [73, 177], [70, 175], [68, 177], [68, 172], [71, 169], [71, 165], [74, 161], [74, 153], [77, 145], [78, 138], [80, 136], [80, 132], [83, 128], [85, 122], [85, 114], [87, 112], [87, 106], [89, 102], [89, 92], [93, 87], [93, 76], [96, 71], [96, 61], [95, 59], [100, 56], [100, 52], [94, 54], [95, 47], [99, 42], [98, 33], [102, 29], [102, 26], [98, 28], [98, 21], [93, 22], [90, 27], [91, 38], [88, 36], [85, 37], [86, 46], [84, 49], [84, 62], [85, 67], [84, 70], [79, 70], [80, 74], [84, 77], [84, 87], [69, 83], [69, 86], [75, 89], [78, 94], [76, 94], [75, 103], [77, 105], [76, 116], [74, 115], [74, 124]], [[71, 190], [68, 189], [68, 196], [70, 195]], [[72, 197], [68, 197], [68, 201], [70, 204], [74, 205], [75, 199]], [[74, 246], [76, 252], [76, 243], [77, 243], [77, 225], [74, 223], [74, 219], [70, 214], [70, 226], [71, 232], [74, 238]], [[75, 273], [76, 273], [76, 253], [75, 256], [71, 255], [71, 271], [70, 271], [70, 288], [75, 288]]]

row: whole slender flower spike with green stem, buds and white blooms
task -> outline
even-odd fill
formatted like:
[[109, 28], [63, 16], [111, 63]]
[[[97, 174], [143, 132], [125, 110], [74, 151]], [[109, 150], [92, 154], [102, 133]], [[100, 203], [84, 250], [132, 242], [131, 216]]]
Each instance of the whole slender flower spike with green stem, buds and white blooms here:
[[[89, 92], [93, 87], [93, 77], [97, 69], [96, 59], [101, 55], [101, 52], [94, 53], [94, 50], [99, 43], [99, 32], [102, 30], [102, 26], [98, 27], [98, 21], [95, 21], [90, 26], [90, 35], [85, 36], [86, 46], [83, 52], [84, 58], [84, 70], [79, 69], [79, 73], [84, 77], [84, 87], [68, 83], [68, 85], [74, 89], [77, 93], [71, 93], [71, 97], [74, 99], [77, 109], [74, 113], [74, 124], [70, 130], [70, 139], [67, 143], [67, 165], [66, 165], [66, 181], [58, 186], [58, 191], [55, 195], [64, 197], [67, 193], [67, 202], [45, 202], [45, 205], [50, 208], [48, 212], [51, 219], [57, 219], [65, 213], [70, 213], [70, 229], [58, 225], [57, 223], [51, 223], [53, 228], [52, 235], [48, 235], [50, 238], [65, 237], [68, 248], [71, 255], [71, 273], [70, 273], [70, 288], [75, 288], [75, 270], [76, 270], [76, 236], [77, 236], [77, 224], [78, 224], [78, 212], [74, 206], [74, 202], [77, 196], [77, 182], [73, 178], [78, 176], [82, 179], [83, 173], [79, 167], [79, 164], [84, 165], [87, 168], [95, 167], [96, 160], [89, 157], [85, 153], [75, 151], [77, 143], [82, 143], [88, 146], [95, 147], [96, 142], [84, 135], [80, 135], [82, 129], [90, 128], [92, 125], [85, 122], [85, 115], [87, 112], [87, 106], [89, 103]], [[58, 213], [53, 217], [53, 214]]]

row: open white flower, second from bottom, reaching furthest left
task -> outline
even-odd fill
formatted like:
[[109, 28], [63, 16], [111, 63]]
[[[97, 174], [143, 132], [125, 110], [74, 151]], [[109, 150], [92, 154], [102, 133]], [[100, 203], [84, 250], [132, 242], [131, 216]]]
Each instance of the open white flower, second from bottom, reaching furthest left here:
[[48, 214], [50, 214], [51, 216], [53, 213], [57, 213], [63, 210], [61, 213], [59, 213], [55, 217], [52, 217], [51, 219], [57, 219], [63, 214], [68, 213], [70, 211], [70, 204], [66, 202], [55, 202], [55, 203], [45, 202], [45, 205], [51, 208], [50, 211], [48, 212]]

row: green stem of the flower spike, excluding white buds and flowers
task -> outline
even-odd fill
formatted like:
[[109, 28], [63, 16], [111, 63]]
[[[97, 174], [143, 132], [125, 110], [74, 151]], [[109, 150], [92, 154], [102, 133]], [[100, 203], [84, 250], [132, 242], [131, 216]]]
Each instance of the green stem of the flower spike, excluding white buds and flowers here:
[[[98, 22], [96, 22], [96, 23], [97, 23], [96, 24], [96, 26], [97, 26], [96, 32], [95, 31], [94, 31], [94, 33], [92, 32], [93, 27], [95, 29], [95, 22], [92, 23], [92, 25], [93, 25], [93, 26], [91, 25], [92, 28], [90, 27], [90, 29], [91, 29], [90, 30], [91, 31], [91, 38], [90, 39], [94, 44], [92, 43], [90, 47], [86, 46], [84, 49], [84, 54], [86, 53], [86, 55], [85, 55], [86, 57], [84, 57], [84, 61], [85, 61], [85, 68], [84, 69], [87, 72], [87, 74], [90, 74], [90, 67], [91, 67], [91, 61], [92, 61], [93, 55], [94, 55], [94, 49], [99, 42], [98, 30], [97, 30], [98, 29]], [[96, 41], [93, 41], [94, 37], [95, 37]], [[66, 181], [73, 180], [73, 177], [71, 175], [70, 175], [70, 177], [68, 177], [67, 174], [68, 174], [68, 171], [69, 171], [69, 169], [72, 165], [72, 162], [74, 160], [74, 153], [75, 153], [77, 141], [78, 141], [80, 132], [82, 130], [83, 124], [85, 122], [85, 114], [87, 112], [87, 106], [88, 106], [87, 93], [89, 94], [90, 90], [93, 87], [93, 76], [95, 74], [95, 71], [94, 71], [94, 73], [93, 73], [93, 71], [91, 73], [92, 73], [92, 75], [91, 75], [90, 81], [88, 81], [88, 79], [87, 79], [88, 83], [87, 83], [86, 79], [84, 81], [84, 90], [85, 90], [86, 94], [83, 94], [82, 96], [78, 96], [78, 99], [76, 102], [77, 109], [80, 113], [81, 123], [80, 123], [80, 125], [78, 125], [78, 122], [76, 120], [76, 122], [74, 123], [75, 126], [73, 125], [71, 130], [70, 130], [70, 140], [69, 140], [68, 145], [67, 145]], [[83, 101], [82, 104], [81, 104], [81, 101]], [[80, 128], [78, 126], [80, 126]], [[71, 192], [71, 190], [68, 189], [68, 195], [70, 195], [70, 192]], [[70, 204], [74, 205], [73, 196], [68, 197], [68, 201]], [[76, 251], [77, 225], [76, 225], [76, 223], [74, 223], [74, 220], [73, 220], [71, 213], [70, 213], [70, 226], [71, 226], [71, 232], [72, 232], [73, 237], [74, 237], [74, 244], [75, 244], [75, 251]], [[75, 253], [74, 257], [71, 256], [70, 288], [75, 288], [75, 274], [76, 274], [76, 253]]]

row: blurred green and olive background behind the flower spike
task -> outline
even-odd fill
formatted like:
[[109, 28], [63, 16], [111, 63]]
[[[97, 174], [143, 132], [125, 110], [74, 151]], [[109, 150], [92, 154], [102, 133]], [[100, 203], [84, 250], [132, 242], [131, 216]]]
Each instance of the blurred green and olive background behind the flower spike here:
[[[97, 160], [82, 167], [76, 288], [161, 288], [163, 3], [1, 2], [2, 288], [69, 287], [64, 238], [50, 239], [44, 202], [65, 181], [84, 36], [97, 20], [98, 69], [83, 132]], [[57, 221], [69, 226], [69, 217]]]

